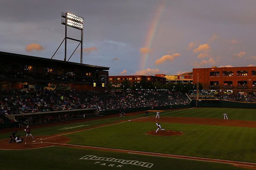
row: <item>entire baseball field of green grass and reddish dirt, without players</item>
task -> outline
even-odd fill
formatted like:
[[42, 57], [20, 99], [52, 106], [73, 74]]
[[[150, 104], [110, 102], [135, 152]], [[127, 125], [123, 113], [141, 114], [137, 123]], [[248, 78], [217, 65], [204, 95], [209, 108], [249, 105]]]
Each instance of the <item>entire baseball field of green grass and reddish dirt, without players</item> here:
[[[160, 119], [154, 111], [34, 125], [36, 140], [22, 143], [8, 143], [14, 128], [0, 129], [0, 169], [256, 169], [255, 111], [187, 108]], [[165, 131], [155, 133], [156, 121]]]

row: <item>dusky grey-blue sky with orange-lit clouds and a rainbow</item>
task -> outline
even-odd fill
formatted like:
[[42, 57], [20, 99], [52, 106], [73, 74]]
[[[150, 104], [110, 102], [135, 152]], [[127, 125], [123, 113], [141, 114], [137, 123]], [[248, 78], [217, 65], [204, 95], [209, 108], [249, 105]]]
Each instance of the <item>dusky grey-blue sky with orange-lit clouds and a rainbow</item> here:
[[[51, 58], [65, 38], [61, 12], [70, 12], [84, 18], [83, 64], [109, 75], [255, 66], [255, 9], [255, 0], [1, 0], [0, 51]], [[68, 27], [68, 37], [80, 34]], [[77, 45], [67, 41], [67, 58]], [[80, 63], [79, 48], [69, 61]]]

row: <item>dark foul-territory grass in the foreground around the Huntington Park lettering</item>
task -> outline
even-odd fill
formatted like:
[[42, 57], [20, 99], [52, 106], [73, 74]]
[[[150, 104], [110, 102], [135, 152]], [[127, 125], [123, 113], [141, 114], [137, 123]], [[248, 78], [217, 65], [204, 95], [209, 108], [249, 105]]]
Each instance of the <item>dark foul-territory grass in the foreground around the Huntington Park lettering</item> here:
[[[10, 170], [71, 170], [71, 169], [88, 169], [88, 170], [159, 170], [159, 169], [209, 169], [209, 170], [241, 170], [244, 168], [238, 168], [229, 164], [203, 162], [195, 160], [177, 159], [177, 158], [165, 158], [155, 157], [147, 155], [136, 155], [129, 153], [118, 153], [108, 151], [95, 151], [68, 147], [49, 147], [42, 149], [32, 150], [17, 150], [17, 151], [0, 151], [2, 157], [0, 159], [0, 169]], [[151, 168], [122, 164], [109, 161], [98, 160], [86, 160], [80, 159], [86, 155], [94, 155], [104, 158], [117, 158], [124, 160], [136, 160], [139, 162], [148, 162], [153, 164]], [[100, 163], [97, 163], [100, 162]], [[114, 164], [114, 166], [109, 166]], [[122, 167], [117, 167], [122, 165]]]

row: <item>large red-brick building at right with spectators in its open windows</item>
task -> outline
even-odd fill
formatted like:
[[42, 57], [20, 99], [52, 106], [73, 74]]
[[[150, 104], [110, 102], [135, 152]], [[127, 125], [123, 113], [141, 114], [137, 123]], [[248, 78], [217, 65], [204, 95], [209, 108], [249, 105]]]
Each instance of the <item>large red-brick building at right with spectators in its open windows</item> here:
[[203, 89], [224, 93], [256, 94], [256, 67], [193, 68], [193, 84], [199, 82]]

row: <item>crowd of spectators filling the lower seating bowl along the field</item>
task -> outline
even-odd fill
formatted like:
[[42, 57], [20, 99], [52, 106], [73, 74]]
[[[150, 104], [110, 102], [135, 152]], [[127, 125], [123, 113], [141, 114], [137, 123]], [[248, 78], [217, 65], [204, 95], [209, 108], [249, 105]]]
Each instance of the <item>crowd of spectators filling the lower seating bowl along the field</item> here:
[[[86, 108], [98, 108], [100, 110], [125, 109], [133, 107], [152, 107], [159, 105], [170, 105], [171, 103], [160, 102], [152, 96], [164, 98], [169, 95], [172, 99], [173, 92], [130, 92], [124, 95], [113, 93], [102, 94], [100, 91], [84, 90], [48, 90], [48, 89], [29, 89], [28, 91], [18, 89], [6, 89], [0, 97], [1, 122], [6, 122], [5, 114], [51, 112], [60, 110], [74, 110]], [[180, 97], [179, 92], [175, 92], [175, 104], [187, 104], [189, 100]], [[168, 97], [166, 97], [167, 99]]]

